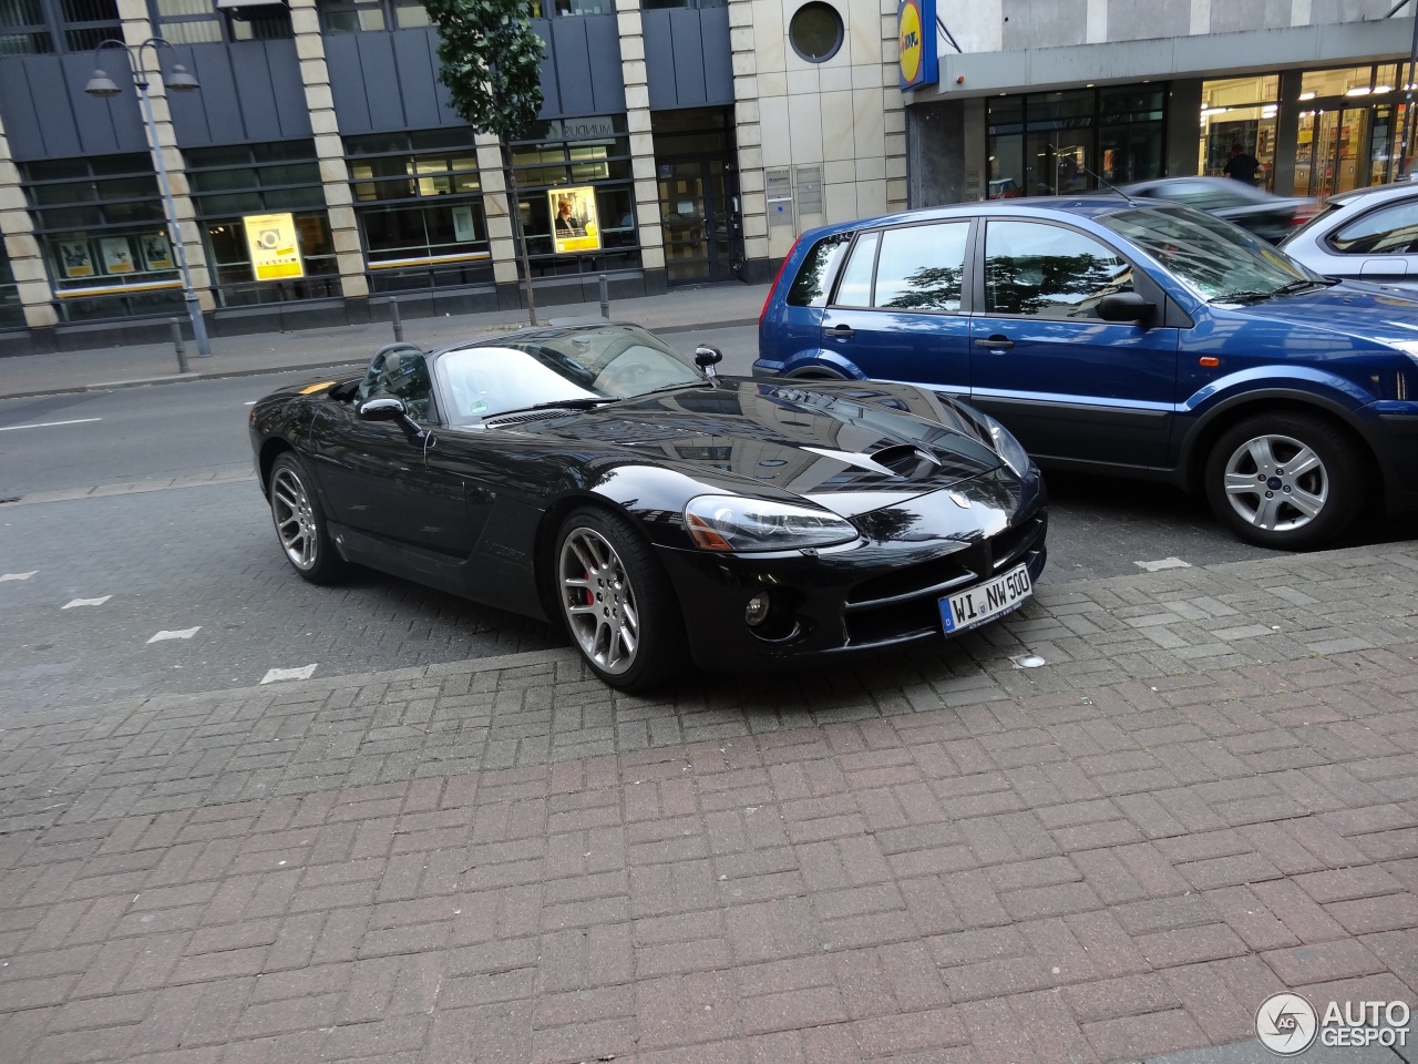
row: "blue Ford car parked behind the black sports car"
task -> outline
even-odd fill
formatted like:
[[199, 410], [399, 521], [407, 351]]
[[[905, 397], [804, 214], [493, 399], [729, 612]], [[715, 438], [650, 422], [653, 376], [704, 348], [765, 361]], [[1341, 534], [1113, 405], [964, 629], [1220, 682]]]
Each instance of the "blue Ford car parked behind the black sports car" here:
[[1339, 282], [1181, 204], [968, 203], [788, 253], [754, 376], [925, 384], [1045, 468], [1205, 492], [1302, 550], [1418, 509], [1418, 294]]

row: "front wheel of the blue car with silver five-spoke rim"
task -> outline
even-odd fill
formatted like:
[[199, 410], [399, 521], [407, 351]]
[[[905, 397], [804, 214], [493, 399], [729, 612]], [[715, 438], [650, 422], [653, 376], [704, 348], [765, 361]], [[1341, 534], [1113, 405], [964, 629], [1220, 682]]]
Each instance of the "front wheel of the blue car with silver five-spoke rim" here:
[[1329, 542], [1364, 505], [1368, 471], [1339, 427], [1305, 413], [1256, 414], [1207, 457], [1207, 501], [1241, 539], [1276, 550]]

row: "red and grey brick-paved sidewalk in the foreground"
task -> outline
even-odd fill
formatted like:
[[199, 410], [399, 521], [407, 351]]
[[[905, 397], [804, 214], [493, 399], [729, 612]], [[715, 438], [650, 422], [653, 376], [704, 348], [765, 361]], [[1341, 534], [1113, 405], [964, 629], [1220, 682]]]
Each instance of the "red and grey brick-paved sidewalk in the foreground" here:
[[549, 651], [27, 719], [0, 1060], [1263, 1060], [1275, 990], [1418, 1003], [1415, 592], [1400, 545], [678, 701]]

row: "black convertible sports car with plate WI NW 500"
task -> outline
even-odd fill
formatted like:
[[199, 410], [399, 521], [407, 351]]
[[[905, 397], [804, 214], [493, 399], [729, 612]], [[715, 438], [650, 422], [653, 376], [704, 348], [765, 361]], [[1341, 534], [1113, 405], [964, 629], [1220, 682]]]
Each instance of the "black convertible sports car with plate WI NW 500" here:
[[281, 546], [560, 621], [607, 684], [939, 640], [1044, 569], [1044, 484], [933, 392], [719, 377], [631, 325], [532, 328], [251, 410]]

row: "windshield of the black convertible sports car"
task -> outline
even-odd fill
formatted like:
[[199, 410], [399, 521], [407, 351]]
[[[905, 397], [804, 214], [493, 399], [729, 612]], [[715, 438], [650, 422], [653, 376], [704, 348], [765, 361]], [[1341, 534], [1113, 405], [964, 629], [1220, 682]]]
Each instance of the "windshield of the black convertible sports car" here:
[[699, 384], [699, 369], [634, 326], [546, 329], [499, 346], [450, 350], [438, 360], [452, 424], [550, 403], [631, 399]]

